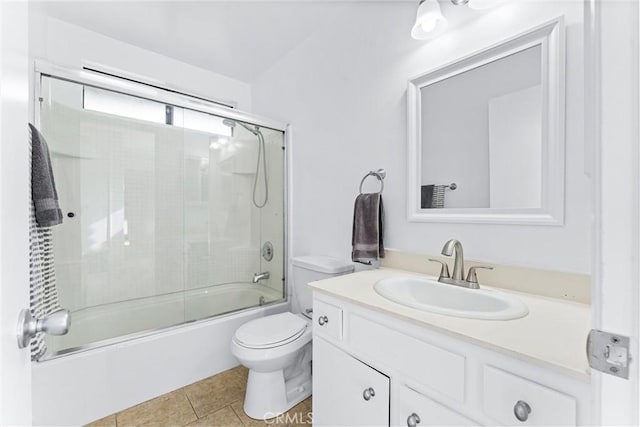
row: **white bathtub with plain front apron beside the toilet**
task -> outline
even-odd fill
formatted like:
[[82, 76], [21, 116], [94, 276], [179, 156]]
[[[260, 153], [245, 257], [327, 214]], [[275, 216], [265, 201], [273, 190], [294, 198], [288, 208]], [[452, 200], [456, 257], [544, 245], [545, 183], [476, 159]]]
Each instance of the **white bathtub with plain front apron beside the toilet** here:
[[74, 312], [69, 334], [47, 340], [52, 356], [33, 364], [33, 423], [83, 425], [237, 366], [235, 330], [288, 310], [278, 291], [233, 283]]

